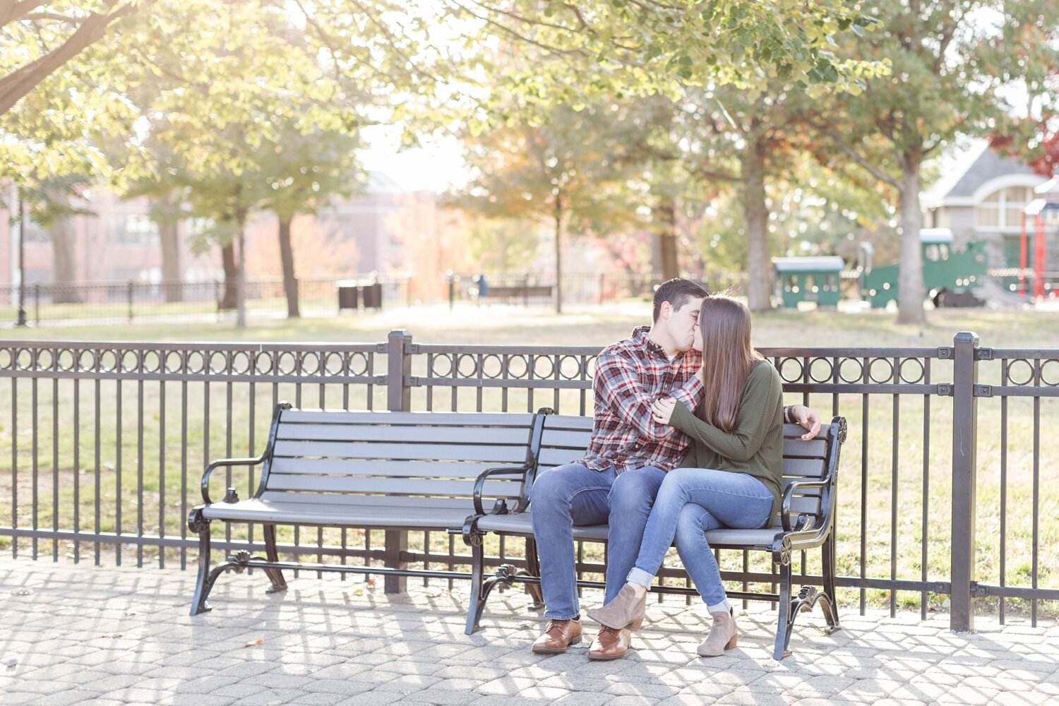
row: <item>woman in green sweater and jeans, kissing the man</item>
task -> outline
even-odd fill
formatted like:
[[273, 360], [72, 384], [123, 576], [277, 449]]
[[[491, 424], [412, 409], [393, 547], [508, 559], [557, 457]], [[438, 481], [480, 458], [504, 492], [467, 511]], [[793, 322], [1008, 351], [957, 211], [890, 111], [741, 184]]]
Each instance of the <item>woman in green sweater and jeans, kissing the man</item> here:
[[677, 539], [680, 559], [714, 623], [699, 646], [702, 656], [735, 647], [737, 631], [705, 531], [756, 529], [779, 505], [783, 479], [783, 385], [779, 374], [750, 342], [750, 310], [728, 296], [702, 304], [704, 398], [692, 412], [672, 398], [654, 403], [653, 418], [694, 439], [687, 457], [659, 489], [635, 567], [617, 596], [589, 616], [611, 628], [635, 630], [647, 589]]

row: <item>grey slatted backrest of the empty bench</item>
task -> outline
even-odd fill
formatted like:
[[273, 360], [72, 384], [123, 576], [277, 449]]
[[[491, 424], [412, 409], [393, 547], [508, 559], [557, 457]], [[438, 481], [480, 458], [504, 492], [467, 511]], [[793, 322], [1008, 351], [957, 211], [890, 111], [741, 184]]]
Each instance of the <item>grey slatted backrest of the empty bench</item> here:
[[[281, 409], [258, 494], [469, 508], [483, 470], [532, 460], [534, 419], [533, 414]], [[522, 485], [516, 473], [490, 479], [484, 494], [518, 500]]]

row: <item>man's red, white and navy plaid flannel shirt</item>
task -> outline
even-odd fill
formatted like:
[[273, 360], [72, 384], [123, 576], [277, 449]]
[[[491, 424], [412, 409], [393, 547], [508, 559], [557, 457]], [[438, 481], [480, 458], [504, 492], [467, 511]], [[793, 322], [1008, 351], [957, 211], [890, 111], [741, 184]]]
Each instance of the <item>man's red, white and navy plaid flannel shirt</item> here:
[[672, 427], [656, 423], [651, 405], [675, 397], [694, 410], [702, 399], [702, 383], [695, 372], [702, 365], [697, 350], [677, 354], [671, 360], [647, 338], [647, 326], [632, 337], [608, 346], [596, 358], [593, 393], [595, 416], [592, 440], [580, 460], [595, 471], [610, 466], [617, 473], [645, 466], [669, 471], [684, 458], [690, 439]]

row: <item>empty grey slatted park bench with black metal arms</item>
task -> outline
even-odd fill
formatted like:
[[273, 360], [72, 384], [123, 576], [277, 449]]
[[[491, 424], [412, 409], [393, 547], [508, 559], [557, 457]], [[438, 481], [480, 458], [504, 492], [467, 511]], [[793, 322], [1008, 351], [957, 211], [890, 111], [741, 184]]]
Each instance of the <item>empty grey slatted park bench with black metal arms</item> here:
[[[284, 569], [382, 575], [388, 591], [403, 576], [468, 578], [466, 573], [407, 569], [407, 531], [461, 527], [468, 515], [484, 514], [487, 507], [500, 511], [507, 502], [524, 509], [522, 485], [532, 477], [539, 419], [528, 413], [294, 410], [281, 402], [261, 456], [216, 460], [202, 475], [203, 505], [187, 521], [199, 536], [192, 615], [210, 610], [214, 582], [232, 569], [264, 569], [270, 592], [286, 590]], [[227, 466], [261, 466], [252, 497], [239, 500], [229, 488], [223, 500], [210, 499], [211, 474]], [[485, 499], [491, 505], [483, 505]], [[236, 551], [211, 568], [214, 521], [264, 525], [266, 557]], [[388, 530], [387, 565], [280, 561], [276, 525]]]

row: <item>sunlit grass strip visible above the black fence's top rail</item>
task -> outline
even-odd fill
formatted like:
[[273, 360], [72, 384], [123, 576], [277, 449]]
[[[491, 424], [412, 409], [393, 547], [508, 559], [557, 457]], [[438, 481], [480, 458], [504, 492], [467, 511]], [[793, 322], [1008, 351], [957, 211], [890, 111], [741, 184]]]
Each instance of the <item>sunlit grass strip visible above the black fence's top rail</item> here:
[[[501, 345], [606, 345], [650, 323], [643, 302], [574, 306], [556, 314], [543, 308], [492, 305], [395, 308], [326, 319], [110, 324], [6, 330], [3, 338], [46, 341], [383, 341], [395, 328], [424, 343]], [[943, 346], [957, 331], [974, 331], [984, 346], [1059, 348], [1059, 310], [941, 309], [927, 326], [899, 326], [885, 311], [774, 311], [754, 316], [759, 346]]]

